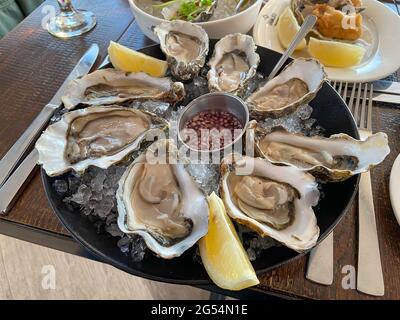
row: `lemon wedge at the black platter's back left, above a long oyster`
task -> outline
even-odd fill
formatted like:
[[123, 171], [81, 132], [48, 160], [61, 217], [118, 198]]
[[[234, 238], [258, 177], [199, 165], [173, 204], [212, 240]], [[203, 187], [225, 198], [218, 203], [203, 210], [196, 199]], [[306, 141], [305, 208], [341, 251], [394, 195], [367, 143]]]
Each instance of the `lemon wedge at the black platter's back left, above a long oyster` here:
[[111, 41], [108, 55], [114, 68], [126, 72], [146, 72], [153, 77], [163, 77], [168, 69], [166, 61], [129, 49]]

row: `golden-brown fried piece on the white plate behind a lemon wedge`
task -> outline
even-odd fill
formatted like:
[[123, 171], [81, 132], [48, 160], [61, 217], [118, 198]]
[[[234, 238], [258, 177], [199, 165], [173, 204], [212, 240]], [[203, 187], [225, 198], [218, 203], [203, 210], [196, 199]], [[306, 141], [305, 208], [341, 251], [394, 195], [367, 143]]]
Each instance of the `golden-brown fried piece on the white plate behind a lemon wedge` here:
[[[359, 0], [352, 0], [360, 3]], [[317, 4], [312, 12], [318, 17], [317, 30], [327, 38], [354, 41], [362, 35], [362, 16], [346, 14], [327, 4]]]

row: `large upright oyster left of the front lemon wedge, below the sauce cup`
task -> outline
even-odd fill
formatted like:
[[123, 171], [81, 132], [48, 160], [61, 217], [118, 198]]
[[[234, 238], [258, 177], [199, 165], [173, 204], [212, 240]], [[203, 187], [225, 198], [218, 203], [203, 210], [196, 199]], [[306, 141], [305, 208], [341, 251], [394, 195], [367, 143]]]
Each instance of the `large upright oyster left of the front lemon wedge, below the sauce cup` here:
[[164, 259], [180, 256], [208, 231], [207, 200], [176, 154], [172, 140], [152, 144], [122, 175], [116, 195], [121, 231], [142, 236]]

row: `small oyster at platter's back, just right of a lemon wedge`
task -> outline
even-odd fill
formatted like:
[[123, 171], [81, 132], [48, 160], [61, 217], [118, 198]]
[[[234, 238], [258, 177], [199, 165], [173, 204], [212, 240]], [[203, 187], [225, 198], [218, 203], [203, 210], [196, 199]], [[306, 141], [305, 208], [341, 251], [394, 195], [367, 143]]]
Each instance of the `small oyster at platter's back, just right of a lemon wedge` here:
[[198, 75], [208, 54], [209, 40], [203, 28], [177, 20], [161, 23], [154, 33], [175, 78], [186, 81]]

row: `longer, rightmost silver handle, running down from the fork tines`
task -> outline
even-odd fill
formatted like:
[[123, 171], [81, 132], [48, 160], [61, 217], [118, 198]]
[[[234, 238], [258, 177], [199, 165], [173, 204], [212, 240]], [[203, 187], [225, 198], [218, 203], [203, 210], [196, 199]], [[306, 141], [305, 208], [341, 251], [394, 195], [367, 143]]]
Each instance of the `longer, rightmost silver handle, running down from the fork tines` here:
[[374, 296], [383, 296], [385, 286], [369, 172], [361, 174], [358, 197], [357, 290]]

